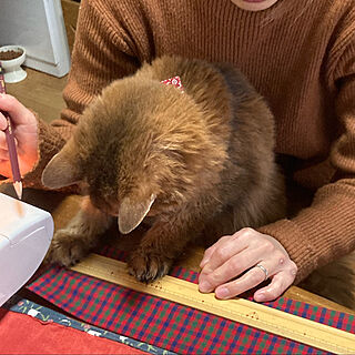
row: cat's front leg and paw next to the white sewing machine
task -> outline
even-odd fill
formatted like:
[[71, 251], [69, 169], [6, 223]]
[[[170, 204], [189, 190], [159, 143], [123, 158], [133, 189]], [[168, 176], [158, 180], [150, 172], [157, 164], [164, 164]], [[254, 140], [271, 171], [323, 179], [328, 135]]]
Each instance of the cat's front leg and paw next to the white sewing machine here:
[[83, 197], [81, 209], [68, 226], [54, 233], [44, 263], [71, 266], [84, 257], [95, 245], [111, 222], [109, 216], [95, 209], [89, 197]]

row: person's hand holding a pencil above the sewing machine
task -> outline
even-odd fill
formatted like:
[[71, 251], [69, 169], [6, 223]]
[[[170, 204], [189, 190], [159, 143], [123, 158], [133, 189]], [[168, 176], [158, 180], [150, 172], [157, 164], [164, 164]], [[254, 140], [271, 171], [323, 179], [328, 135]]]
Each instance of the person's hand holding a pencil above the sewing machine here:
[[11, 178], [12, 173], [8, 145], [3, 132], [8, 126], [8, 123], [1, 111], [7, 112], [11, 118], [20, 172], [21, 175], [24, 175], [31, 171], [38, 160], [38, 126], [36, 116], [16, 98], [8, 94], [0, 94], [0, 175], [6, 178]]

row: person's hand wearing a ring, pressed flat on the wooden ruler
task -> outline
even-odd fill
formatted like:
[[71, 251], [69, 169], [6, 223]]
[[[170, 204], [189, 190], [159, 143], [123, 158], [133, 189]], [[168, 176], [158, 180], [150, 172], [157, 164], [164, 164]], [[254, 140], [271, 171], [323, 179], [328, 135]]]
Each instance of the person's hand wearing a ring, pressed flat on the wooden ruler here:
[[257, 290], [254, 300], [275, 300], [291, 286], [297, 273], [296, 264], [280, 242], [253, 229], [221, 237], [205, 251], [200, 266], [200, 291], [214, 291], [222, 300], [251, 290], [266, 277], [271, 283]]

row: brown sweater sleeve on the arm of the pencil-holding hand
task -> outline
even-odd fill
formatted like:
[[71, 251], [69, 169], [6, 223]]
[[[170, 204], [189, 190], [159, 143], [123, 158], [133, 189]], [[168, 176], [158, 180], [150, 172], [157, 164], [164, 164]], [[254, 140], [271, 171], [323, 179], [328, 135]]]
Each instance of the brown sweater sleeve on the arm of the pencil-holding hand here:
[[32, 171], [23, 176], [24, 186], [44, 189], [41, 184], [42, 171], [70, 139], [85, 106], [111, 81], [139, 68], [129, 36], [114, 16], [116, 11], [104, 1], [82, 1], [71, 71], [63, 91], [67, 108], [60, 119], [50, 124], [37, 118], [39, 160]]

